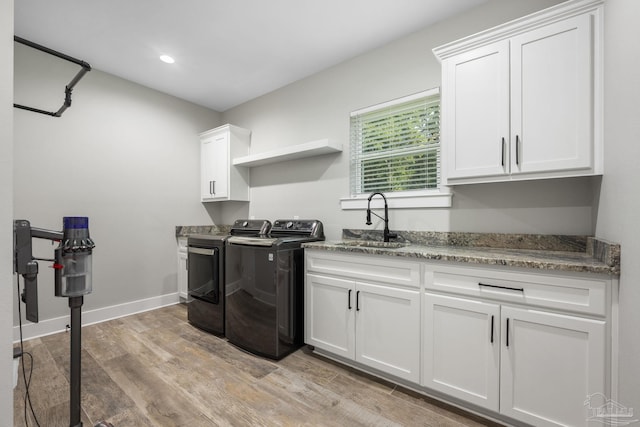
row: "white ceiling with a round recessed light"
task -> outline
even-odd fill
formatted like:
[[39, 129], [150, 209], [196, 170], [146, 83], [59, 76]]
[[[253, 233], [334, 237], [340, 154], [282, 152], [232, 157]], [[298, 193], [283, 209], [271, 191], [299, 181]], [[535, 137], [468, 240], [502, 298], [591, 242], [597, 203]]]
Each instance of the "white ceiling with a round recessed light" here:
[[222, 112], [485, 1], [19, 0], [15, 34]]

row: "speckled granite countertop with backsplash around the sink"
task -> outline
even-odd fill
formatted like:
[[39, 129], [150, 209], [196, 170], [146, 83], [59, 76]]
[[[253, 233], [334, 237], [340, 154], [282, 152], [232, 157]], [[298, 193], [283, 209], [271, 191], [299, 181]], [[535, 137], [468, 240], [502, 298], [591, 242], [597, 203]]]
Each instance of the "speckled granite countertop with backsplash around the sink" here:
[[[395, 232], [395, 230], [394, 230]], [[502, 265], [555, 271], [620, 275], [620, 245], [588, 236], [441, 233], [398, 231], [390, 247], [357, 242], [382, 241], [382, 233], [343, 230], [342, 241], [305, 243], [309, 249]]]

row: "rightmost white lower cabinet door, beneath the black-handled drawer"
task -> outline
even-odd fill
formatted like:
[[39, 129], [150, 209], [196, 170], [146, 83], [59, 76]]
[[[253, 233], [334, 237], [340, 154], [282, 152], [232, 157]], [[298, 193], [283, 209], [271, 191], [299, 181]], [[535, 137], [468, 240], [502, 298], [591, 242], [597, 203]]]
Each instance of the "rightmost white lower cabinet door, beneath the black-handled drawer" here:
[[605, 389], [605, 322], [502, 307], [500, 412], [536, 426], [586, 426]]

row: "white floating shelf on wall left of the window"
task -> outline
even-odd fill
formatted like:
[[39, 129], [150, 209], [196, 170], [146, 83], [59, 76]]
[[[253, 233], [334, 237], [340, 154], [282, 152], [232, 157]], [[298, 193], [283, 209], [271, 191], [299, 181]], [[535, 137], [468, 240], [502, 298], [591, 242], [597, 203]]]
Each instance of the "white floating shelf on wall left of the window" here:
[[328, 139], [320, 139], [305, 144], [292, 145], [265, 151], [264, 153], [251, 154], [233, 159], [234, 166], [262, 166], [270, 163], [284, 162], [287, 160], [302, 159], [305, 157], [321, 156], [323, 154], [339, 153], [342, 144], [331, 144]]

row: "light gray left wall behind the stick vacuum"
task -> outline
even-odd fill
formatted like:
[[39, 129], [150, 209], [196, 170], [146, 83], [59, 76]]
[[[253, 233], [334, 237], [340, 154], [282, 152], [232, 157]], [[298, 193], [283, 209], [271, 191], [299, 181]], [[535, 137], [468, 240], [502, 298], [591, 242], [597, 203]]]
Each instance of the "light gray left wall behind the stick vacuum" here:
[[[54, 111], [78, 70], [18, 44], [15, 64], [16, 102]], [[84, 310], [177, 291], [175, 225], [212, 222], [199, 202], [198, 133], [219, 124], [212, 110], [98, 70], [60, 118], [15, 110], [15, 218], [60, 230], [63, 216], [89, 217], [94, 289]], [[53, 247], [35, 241], [34, 252], [51, 257]], [[41, 320], [68, 315], [46, 262], [40, 271]]]

